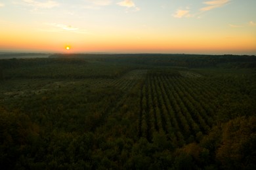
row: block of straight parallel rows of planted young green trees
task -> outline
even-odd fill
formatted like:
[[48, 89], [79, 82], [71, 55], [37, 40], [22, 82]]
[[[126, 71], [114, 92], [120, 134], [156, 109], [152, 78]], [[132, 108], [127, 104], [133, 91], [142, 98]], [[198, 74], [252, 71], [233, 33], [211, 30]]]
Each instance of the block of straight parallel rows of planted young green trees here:
[[148, 74], [140, 90], [139, 136], [152, 141], [158, 131], [179, 146], [200, 141], [215, 124], [217, 93], [202, 78]]

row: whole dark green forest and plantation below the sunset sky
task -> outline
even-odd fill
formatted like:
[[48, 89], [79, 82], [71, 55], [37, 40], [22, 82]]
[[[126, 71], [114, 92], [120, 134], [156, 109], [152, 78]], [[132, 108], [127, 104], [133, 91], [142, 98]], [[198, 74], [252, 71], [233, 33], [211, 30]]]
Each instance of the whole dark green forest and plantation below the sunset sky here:
[[12, 57], [0, 169], [256, 169], [256, 56]]

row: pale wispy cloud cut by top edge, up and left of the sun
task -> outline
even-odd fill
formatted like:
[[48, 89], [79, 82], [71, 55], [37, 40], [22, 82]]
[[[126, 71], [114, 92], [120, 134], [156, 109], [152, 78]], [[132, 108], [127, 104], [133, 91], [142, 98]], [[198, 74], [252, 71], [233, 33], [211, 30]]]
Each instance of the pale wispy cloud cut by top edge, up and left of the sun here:
[[59, 3], [57, 3], [56, 1], [34, 1], [34, 0], [22, 0], [25, 5], [34, 7], [35, 9], [51, 9], [54, 7], [57, 7], [59, 5]]

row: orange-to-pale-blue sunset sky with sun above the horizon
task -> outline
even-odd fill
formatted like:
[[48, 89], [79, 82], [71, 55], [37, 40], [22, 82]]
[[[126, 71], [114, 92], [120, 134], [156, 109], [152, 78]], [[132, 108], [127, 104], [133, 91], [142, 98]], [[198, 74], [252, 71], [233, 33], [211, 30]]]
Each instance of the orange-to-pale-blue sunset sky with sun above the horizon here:
[[255, 0], [0, 0], [0, 52], [256, 55], [255, 7]]

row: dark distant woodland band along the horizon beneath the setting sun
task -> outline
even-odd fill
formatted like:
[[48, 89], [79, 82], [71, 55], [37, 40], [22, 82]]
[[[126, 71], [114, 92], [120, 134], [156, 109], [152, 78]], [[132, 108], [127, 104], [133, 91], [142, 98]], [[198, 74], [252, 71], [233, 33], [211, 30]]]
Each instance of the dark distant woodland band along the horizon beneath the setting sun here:
[[232, 67], [256, 67], [256, 56], [195, 55], [195, 54], [53, 54], [50, 58], [104, 58], [105, 61], [142, 65], [178, 67], [217, 67], [232, 64]]

